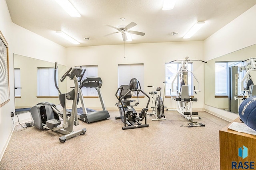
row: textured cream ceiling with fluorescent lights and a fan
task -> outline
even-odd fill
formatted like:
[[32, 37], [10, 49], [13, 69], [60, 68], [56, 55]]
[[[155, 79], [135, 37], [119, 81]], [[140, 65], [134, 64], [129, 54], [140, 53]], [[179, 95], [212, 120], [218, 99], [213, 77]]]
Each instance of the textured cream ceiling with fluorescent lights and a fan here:
[[[71, 18], [54, 0], [6, 0], [12, 22], [64, 47], [124, 44], [121, 33], [104, 37], [118, 27], [135, 22], [132, 35], [126, 43], [155, 43], [200, 41], [234, 20], [256, 4], [256, 0], [177, 0], [173, 10], [162, 10], [163, 0], [70, 0], [81, 14]], [[125, 21], [120, 21], [125, 18]], [[182, 39], [196, 23], [205, 25], [190, 39]], [[235, 29], [235, 28], [234, 28]], [[80, 45], [69, 43], [56, 35], [63, 31]], [[178, 32], [178, 35], [171, 35]], [[91, 40], [85, 41], [84, 37]]]

